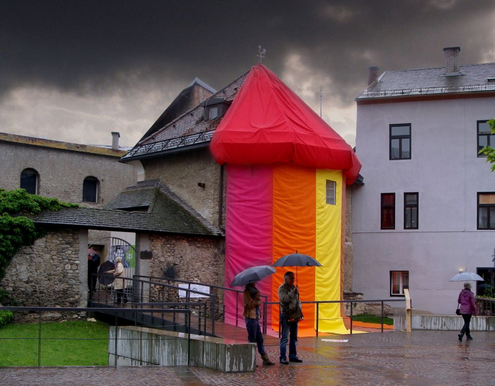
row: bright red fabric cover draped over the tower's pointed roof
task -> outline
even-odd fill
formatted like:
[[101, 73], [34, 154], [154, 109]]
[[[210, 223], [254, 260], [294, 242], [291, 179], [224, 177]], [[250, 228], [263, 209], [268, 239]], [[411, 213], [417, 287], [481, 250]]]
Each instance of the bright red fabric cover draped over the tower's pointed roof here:
[[249, 71], [210, 148], [219, 164], [344, 170], [347, 184], [361, 169], [342, 137], [263, 64]]

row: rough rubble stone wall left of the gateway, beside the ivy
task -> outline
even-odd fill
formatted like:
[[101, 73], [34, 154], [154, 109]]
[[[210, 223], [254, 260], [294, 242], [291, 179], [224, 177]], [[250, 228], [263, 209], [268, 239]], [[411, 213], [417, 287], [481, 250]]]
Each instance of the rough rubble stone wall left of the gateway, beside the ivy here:
[[[0, 287], [20, 301], [20, 306], [86, 307], [87, 261], [80, 259], [81, 242], [87, 243], [87, 237], [81, 239], [79, 230], [49, 231], [33, 245], [19, 249], [7, 266]], [[44, 319], [62, 318], [52, 314]], [[16, 319], [37, 320], [38, 316], [16, 313]]]

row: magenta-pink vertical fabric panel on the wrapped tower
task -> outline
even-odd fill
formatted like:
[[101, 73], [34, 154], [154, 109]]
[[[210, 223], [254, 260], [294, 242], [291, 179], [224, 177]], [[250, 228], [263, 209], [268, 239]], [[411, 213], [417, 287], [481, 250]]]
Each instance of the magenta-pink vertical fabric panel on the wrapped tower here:
[[[272, 166], [227, 165], [225, 286], [246, 268], [272, 264]], [[271, 301], [271, 276], [257, 287]], [[235, 287], [242, 289], [244, 287]], [[244, 326], [242, 295], [225, 293], [225, 322]], [[263, 311], [263, 310], [262, 310]], [[270, 315], [269, 315], [270, 316]]]

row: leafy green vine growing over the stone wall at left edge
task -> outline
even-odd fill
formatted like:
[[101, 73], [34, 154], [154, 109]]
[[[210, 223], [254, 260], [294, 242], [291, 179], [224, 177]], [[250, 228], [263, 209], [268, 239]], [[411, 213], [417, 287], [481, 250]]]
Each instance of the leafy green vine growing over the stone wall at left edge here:
[[57, 211], [60, 208], [73, 208], [56, 198], [40, 197], [27, 193], [24, 189], [7, 191], [0, 188], [0, 280], [12, 257], [23, 245], [32, 245], [42, 237], [44, 229], [23, 215], [36, 215], [42, 210]]

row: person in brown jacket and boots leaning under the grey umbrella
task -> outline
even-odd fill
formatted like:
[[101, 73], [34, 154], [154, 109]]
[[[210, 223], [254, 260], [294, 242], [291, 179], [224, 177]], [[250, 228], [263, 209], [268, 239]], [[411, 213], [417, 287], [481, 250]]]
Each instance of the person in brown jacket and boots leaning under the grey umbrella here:
[[260, 317], [261, 317], [261, 300], [260, 291], [256, 288], [256, 282], [246, 284], [246, 289], [243, 293], [244, 297], [244, 311], [242, 316], [246, 321], [246, 330], [248, 331], [248, 341], [256, 343], [258, 346], [258, 352], [263, 359], [263, 364], [267, 366], [275, 365], [274, 362], [270, 360], [268, 354], [265, 352], [265, 346], [263, 345], [263, 334], [260, 328]]

